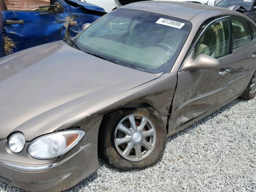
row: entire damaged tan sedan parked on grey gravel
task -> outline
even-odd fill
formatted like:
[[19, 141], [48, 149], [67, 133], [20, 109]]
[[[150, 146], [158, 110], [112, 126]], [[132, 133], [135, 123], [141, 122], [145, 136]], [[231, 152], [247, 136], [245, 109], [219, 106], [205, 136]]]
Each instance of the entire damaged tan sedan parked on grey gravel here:
[[167, 136], [255, 97], [255, 52], [256, 25], [239, 12], [149, 1], [73, 39], [6, 56], [0, 178], [28, 191], [65, 190], [96, 172], [98, 150], [121, 170], [151, 166]]

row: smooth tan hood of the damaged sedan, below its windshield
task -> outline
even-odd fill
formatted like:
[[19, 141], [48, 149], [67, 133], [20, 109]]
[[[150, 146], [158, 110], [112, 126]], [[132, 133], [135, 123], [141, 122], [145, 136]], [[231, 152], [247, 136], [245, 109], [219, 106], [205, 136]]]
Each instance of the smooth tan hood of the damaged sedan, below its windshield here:
[[6, 56], [0, 60], [0, 139], [14, 131], [27, 140], [52, 132], [160, 75], [102, 60], [62, 41]]

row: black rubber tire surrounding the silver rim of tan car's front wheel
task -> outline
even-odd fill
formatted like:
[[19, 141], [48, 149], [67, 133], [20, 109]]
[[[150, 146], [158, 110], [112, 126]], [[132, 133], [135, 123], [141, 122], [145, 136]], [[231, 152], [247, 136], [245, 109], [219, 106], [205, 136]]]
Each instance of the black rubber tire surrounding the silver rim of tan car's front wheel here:
[[[152, 152], [143, 160], [130, 161], [123, 158], [117, 151], [114, 143], [114, 133], [116, 126], [122, 120], [122, 118], [130, 114], [141, 114], [150, 119], [156, 129], [156, 144]], [[104, 132], [104, 137], [101, 137], [101, 147], [104, 150], [104, 156], [109, 164], [121, 170], [140, 169], [151, 166], [156, 163], [162, 156], [166, 146], [166, 128], [159, 114], [152, 108], [132, 108], [122, 109], [107, 115], [101, 124], [101, 131]], [[101, 133], [100, 133], [101, 134]]]

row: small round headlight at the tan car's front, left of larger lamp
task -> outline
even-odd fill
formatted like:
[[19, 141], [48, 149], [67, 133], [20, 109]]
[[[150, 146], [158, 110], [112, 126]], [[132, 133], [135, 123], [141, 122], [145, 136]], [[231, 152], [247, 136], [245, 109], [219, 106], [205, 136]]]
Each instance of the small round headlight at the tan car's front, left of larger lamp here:
[[25, 137], [22, 133], [16, 133], [8, 139], [8, 146], [11, 152], [20, 153], [26, 143]]

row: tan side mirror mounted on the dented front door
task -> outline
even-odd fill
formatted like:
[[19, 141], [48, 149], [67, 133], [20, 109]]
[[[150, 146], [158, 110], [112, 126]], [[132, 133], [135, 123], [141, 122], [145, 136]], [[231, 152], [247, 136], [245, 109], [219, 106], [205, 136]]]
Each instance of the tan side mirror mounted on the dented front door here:
[[182, 67], [182, 70], [188, 69], [217, 69], [219, 68], [219, 61], [211, 56], [200, 54], [193, 59], [194, 50], [190, 54]]

